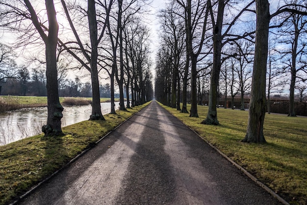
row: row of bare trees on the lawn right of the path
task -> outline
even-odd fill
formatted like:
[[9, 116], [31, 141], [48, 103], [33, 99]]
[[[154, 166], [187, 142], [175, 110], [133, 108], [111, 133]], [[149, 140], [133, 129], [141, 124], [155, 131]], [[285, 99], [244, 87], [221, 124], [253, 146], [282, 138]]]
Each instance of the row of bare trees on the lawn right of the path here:
[[243, 95], [251, 89], [243, 141], [265, 142], [266, 91], [269, 98], [289, 80], [289, 116], [295, 116], [294, 89], [307, 80], [306, 2], [279, 3], [282, 6], [270, 14], [267, 0], [169, 0], [160, 12], [162, 46], [156, 57], [155, 97], [187, 113], [190, 82], [190, 117], [198, 117], [197, 97], [209, 89], [208, 114], [202, 123], [217, 125], [218, 93], [223, 90], [232, 98], [241, 93], [244, 106]]

